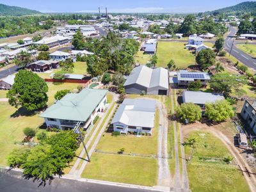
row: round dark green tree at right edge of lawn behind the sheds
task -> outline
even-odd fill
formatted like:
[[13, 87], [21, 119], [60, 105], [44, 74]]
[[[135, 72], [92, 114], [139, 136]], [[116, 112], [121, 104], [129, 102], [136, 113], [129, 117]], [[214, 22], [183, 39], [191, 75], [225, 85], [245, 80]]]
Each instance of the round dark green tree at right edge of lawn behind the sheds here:
[[196, 63], [203, 69], [211, 67], [215, 63], [216, 55], [211, 49], [203, 49], [196, 55]]

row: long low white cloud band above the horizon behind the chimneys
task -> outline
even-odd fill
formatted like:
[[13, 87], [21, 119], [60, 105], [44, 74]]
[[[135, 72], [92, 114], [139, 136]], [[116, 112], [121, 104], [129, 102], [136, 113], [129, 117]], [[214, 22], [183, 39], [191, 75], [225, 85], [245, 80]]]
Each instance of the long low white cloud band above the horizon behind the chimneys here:
[[[105, 12], [105, 8], [101, 9]], [[163, 11], [163, 7], [137, 7], [137, 8], [121, 8], [121, 9], [108, 9], [109, 13], [159, 13]], [[78, 13], [97, 13], [98, 10], [82, 10]]]

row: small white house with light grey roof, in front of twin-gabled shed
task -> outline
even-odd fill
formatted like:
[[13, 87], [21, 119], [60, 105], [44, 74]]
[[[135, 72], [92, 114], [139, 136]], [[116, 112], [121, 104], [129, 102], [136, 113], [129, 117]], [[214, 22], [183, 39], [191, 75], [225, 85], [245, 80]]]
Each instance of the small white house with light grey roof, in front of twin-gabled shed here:
[[145, 132], [152, 134], [156, 113], [156, 101], [147, 99], [125, 99], [116, 110], [111, 122], [114, 131]]

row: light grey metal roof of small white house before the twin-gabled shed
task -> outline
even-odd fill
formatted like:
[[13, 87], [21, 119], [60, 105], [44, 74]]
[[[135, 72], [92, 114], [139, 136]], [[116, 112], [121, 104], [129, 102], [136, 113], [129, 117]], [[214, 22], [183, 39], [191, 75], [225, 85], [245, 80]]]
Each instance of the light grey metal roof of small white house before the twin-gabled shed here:
[[125, 99], [117, 109], [111, 124], [120, 122], [128, 126], [154, 127], [156, 101]]

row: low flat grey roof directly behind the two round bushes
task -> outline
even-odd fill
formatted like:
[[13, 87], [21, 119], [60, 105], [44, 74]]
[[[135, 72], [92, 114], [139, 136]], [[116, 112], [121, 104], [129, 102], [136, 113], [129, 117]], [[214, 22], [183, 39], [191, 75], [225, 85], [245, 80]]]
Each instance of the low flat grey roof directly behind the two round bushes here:
[[214, 103], [216, 100], [225, 99], [222, 94], [184, 91], [182, 94], [183, 102], [192, 102], [193, 104]]

